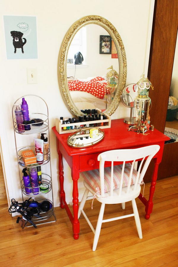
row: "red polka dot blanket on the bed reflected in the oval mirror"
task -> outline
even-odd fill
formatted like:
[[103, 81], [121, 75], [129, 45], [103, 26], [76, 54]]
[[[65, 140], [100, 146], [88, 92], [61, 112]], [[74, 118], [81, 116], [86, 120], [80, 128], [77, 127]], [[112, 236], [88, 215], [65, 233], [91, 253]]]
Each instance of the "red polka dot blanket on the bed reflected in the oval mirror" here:
[[70, 91], [83, 91], [103, 99], [104, 95], [106, 94], [107, 85], [107, 82], [100, 82], [103, 80], [104, 78], [99, 76], [91, 79], [88, 82], [70, 80], [68, 81], [68, 86]]

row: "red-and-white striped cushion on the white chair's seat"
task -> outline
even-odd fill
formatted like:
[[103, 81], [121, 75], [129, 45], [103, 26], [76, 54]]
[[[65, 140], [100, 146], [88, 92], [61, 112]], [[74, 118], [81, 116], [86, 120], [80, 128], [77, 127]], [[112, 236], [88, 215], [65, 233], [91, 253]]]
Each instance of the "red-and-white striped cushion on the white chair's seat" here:
[[[120, 178], [122, 172], [123, 165], [114, 166], [113, 171], [113, 189], [117, 189], [120, 187]], [[125, 164], [124, 169], [124, 177], [123, 177], [123, 187], [128, 185], [128, 179], [131, 170], [131, 163]], [[88, 185], [97, 193], [100, 194], [100, 177], [99, 177], [99, 169], [83, 171], [80, 173], [83, 179], [88, 183]], [[135, 183], [137, 171], [133, 169], [133, 175], [131, 180], [131, 185]], [[111, 167], [104, 168], [104, 193], [110, 191], [110, 179], [111, 179]]]

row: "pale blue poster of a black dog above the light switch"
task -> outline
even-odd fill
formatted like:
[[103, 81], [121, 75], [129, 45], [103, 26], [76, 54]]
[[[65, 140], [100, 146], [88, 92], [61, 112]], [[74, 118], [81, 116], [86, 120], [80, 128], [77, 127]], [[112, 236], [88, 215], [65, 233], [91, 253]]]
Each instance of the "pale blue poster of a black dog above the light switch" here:
[[37, 52], [36, 17], [4, 16], [7, 59], [35, 59]]

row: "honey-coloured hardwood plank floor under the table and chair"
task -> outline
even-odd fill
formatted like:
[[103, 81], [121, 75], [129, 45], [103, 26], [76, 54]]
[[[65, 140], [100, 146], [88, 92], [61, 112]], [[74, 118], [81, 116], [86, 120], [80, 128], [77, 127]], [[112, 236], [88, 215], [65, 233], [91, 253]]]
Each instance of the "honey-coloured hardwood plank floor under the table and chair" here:
[[[102, 225], [98, 246], [92, 251], [93, 232], [83, 216], [80, 237], [73, 239], [71, 223], [65, 210], [57, 207], [57, 222], [22, 229], [8, 213], [7, 201], [0, 199], [1, 267], [4, 266], [178, 266], [178, 176], [157, 181], [153, 212], [144, 219], [144, 206], [136, 200], [143, 239], [139, 239], [134, 218]], [[144, 196], [149, 195], [145, 185]], [[142, 187], [143, 190], [143, 187]], [[100, 204], [87, 201], [85, 211], [96, 226]], [[72, 209], [72, 206], [70, 206]], [[108, 205], [104, 217], [127, 214], [131, 204]]]

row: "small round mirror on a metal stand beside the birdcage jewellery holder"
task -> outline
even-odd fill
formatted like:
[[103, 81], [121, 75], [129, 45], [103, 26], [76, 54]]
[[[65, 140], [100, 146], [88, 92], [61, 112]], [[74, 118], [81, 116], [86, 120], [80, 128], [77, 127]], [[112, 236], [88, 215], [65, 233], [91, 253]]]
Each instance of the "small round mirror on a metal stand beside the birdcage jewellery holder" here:
[[131, 109], [130, 117], [125, 118], [124, 122], [128, 124], [135, 124], [136, 117], [134, 116], [134, 108], [136, 107], [135, 98], [138, 94], [138, 85], [135, 83], [131, 83], [125, 86], [122, 93], [122, 102], [126, 107]]

